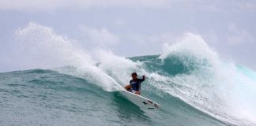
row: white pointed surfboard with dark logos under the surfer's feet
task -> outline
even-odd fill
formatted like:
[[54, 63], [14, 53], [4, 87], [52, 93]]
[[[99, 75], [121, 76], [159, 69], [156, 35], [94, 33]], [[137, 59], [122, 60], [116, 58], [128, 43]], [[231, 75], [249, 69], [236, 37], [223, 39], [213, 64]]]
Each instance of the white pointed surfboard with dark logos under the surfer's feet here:
[[161, 107], [160, 104], [153, 102], [149, 98], [145, 98], [141, 95], [136, 95], [129, 91], [119, 91], [119, 92], [122, 96], [124, 96], [130, 102], [133, 102], [135, 105], [139, 106], [140, 108], [159, 109]]

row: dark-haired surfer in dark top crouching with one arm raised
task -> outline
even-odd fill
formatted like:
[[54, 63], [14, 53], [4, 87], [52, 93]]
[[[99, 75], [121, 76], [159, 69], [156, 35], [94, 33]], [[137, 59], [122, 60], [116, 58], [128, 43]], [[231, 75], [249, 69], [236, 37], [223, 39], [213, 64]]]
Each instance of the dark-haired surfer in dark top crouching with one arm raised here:
[[134, 92], [137, 95], [140, 95], [140, 90], [141, 90], [141, 82], [145, 80], [145, 76], [142, 76], [142, 79], [137, 78], [137, 73], [133, 72], [131, 74], [132, 80], [130, 80], [130, 84], [126, 85], [126, 90], [130, 92]]

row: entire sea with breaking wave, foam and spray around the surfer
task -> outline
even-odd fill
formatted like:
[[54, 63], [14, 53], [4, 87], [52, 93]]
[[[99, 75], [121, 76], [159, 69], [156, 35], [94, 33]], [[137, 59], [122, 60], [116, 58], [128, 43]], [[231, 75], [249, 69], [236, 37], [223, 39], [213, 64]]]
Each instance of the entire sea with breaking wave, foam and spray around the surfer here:
[[[0, 125], [256, 125], [256, 72], [222, 60], [200, 35], [136, 57], [83, 48], [36, 23], [15, 36], [0, 58], [18, 70], [0, 72]], [[147, 76], [141, 95], [161, 109], [122, 98], [131, 72]]]

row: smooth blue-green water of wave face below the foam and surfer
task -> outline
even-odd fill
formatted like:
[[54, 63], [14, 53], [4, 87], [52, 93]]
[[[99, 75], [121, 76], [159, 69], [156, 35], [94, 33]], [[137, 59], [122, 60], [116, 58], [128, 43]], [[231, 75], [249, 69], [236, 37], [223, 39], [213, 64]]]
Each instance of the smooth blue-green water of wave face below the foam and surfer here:
[[143, 91], [163, 108], [140, 109], [116, 91], [51, 70], [0, 77], [1, 125], [225, 125], [166, 93]]

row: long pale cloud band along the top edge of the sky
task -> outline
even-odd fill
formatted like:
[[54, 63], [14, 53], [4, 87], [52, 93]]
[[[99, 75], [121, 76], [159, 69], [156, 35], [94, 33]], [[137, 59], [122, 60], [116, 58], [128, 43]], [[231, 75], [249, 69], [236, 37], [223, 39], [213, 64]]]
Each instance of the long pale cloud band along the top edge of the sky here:
[[18, 11], [47, 11], [58, 9], [104, 9], [111, 7], [129, 7], [135, 9], [163, 9], [170, 7], [183, 7], [187, 11], [237, 11], [256, 10], [256, 2], [226, 2], [221, 0], [0, 0], [0, 10]]

